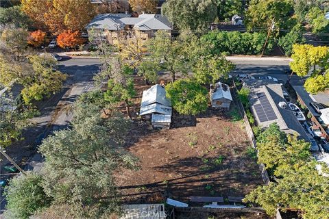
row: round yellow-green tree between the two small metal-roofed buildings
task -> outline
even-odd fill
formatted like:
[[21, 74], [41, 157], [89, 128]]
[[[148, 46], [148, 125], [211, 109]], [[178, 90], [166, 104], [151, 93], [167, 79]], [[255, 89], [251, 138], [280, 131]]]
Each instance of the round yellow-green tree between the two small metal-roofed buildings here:
[[166, 86], [173, 109], [184, 115], [196, 115], [208, 108], [208, 91], [196, 81], [179, 79]]

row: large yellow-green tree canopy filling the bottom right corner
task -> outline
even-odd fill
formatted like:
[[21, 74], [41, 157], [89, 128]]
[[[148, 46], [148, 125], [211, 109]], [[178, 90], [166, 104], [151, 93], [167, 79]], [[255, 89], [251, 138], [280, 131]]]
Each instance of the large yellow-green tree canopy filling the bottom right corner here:
[[273, 181], [258, 186], [245, 197], [257, 203], [267, 214], [275, 215], [278, 207], [285, 211], [297, 209], [303, 218], [326, 218], [329, 213], [329, 169], [311, 157], [310, 143], [287, 136], [271, 124], [257, 139], [258, 162], [273, 169]]

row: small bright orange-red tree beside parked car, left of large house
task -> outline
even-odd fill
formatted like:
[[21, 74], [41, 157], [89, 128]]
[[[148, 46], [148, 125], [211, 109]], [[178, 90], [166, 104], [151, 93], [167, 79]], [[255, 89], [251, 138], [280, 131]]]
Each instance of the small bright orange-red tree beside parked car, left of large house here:
[[57, 44], [62, 48], [74, 48], [85, 42], [83, 38], [80, 37], [79, 31], [64, 31], [62, 34], [57, 36]]

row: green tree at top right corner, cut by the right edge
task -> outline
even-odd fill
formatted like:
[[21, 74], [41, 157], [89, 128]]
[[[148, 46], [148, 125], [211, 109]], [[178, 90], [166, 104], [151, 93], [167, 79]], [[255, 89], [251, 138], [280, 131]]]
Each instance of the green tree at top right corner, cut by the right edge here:
[[311, 8], [306, 15], [306, 20], [313, 33], [329, 33], [329, 20], [324, 15], [325, 12], [318, 7]]

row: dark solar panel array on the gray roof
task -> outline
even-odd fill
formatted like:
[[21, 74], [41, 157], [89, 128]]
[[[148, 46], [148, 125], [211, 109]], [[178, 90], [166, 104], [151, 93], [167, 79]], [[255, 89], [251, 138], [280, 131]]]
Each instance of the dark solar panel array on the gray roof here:
[[254, 108], [256, 110], [256, 114], [259, 118], [260, 123], [275, 120], [278, 117], [276, 117], [276, 113], [273, 110], [273, 107], [269, 103], [269, 99], [267, 99], [267, 96], [264, 92], [257, 93], [258, 100], [260, 101], [260, 104], [255, 104]]

